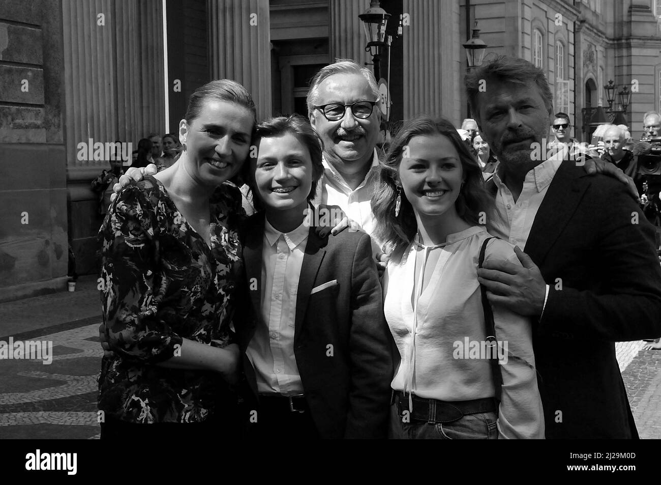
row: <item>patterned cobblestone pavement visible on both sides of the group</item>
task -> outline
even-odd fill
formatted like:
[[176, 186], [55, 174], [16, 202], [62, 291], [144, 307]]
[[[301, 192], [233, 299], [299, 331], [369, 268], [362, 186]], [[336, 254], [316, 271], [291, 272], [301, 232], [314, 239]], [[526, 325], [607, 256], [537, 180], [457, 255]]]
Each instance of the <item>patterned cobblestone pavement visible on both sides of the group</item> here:
[[[0, 438], [98, 438], [99, 323], [93, 317], [13, 335], [15, 341], [52, 341], [53, 361], [0, 360]], [[641, 438], [659, 439], [661, 351], [642, 345], [617, 343], [615, 353]]]

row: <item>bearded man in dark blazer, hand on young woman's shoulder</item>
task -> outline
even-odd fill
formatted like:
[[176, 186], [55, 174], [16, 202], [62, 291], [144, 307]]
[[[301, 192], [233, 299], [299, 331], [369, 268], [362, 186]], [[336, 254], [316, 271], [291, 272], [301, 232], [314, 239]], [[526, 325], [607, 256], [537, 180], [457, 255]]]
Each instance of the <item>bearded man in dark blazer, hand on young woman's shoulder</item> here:
[[566, 150], [533, 155], [553, 113], [541, 69], [498, 56], [466, 81], [500, 160], [488, 229], [525, 249], [524, 267], [478, 274], [490, 302], [532, 317], [546, 437], [637, 438], [615, 342], [661, 335], [654, 228], [625, 185], [588, 176]]

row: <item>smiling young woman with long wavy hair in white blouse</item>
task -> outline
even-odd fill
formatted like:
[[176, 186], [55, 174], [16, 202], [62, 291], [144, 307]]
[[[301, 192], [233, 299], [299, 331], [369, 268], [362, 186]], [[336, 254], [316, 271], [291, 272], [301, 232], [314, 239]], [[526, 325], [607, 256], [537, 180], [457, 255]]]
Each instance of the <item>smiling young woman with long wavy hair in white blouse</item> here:
[[[477, 266], [493, 202], [477, 161], [447, 120], [417, 118], [393, 140], [379, 176], [377, 238], [393, 248], [384, 310], [401, 355], [391, 437], [543, 438], [531, 323], [493, 306], [496, 343], [488, 338]], [[485, 252], [520, 264], [502, 240]]]

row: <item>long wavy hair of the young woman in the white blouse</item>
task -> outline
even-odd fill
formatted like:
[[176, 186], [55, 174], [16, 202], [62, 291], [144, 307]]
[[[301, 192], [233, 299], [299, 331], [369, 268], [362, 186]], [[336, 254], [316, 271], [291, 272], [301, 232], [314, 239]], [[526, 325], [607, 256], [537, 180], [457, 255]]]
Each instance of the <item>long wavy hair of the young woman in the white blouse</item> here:
[[485, 189], [482, 170], [468, 150], [466, 144], [451, 122], [446, 118], [419, 116], [406, 122], [395, 136], [383, 161], [379, 163], [377, 190], [371, 199], [372, 212], [377, 221], [376, 238], [385, 242], [393, 250], [391, 258], [401, 261], [405, 249], [418, 232], [413, 206], [404, 193], [401, 195], [401, 208], [395, 217], [397, 181], [405, 147], [414, 136], [443, 135], [449, 138], [459, 154], [461, 169], [465, 177], [461, 196], [455, 202], [457, 214], [468, 224], [484, 224], [481, 217], [490, 217], [494, 202]]

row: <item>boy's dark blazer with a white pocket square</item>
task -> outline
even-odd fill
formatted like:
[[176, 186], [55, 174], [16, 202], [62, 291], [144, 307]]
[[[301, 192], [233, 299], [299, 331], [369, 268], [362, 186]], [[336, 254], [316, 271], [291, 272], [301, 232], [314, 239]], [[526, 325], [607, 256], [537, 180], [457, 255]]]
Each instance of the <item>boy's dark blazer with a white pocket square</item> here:
[[[255, 326], [265, 325], [260, 313], [263, 212], [248, 220], [244, 234], [246, 276], [249, 282], [255, 279], [257, 289], [249, 290], [251, 316], [237, 326], [237, 335], [253, 394], [247, 399], [254, 400], [256, 379], [245, 349]], [[310, 294], [332, 280], [338, 284]], [[391, 339], [369, 236], [345, 230], [322, 239], [311, 228], [296, 298], [294, 355], [321, 437], [386, 437]], [[332, 357], [327, 355], [329, 344]]]

